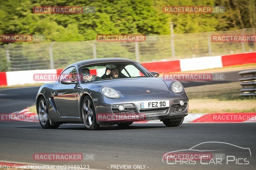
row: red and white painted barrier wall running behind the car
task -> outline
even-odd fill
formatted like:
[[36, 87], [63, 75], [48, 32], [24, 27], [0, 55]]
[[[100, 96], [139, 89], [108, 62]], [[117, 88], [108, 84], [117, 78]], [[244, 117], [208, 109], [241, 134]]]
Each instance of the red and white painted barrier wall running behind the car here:
[[[204, 70], [212, 68], [220, 68], [231, 65], [241, 65], [247, 63], [256, 63], [256, 52], [210, 56], [210, 57], [196, 57], [173, 61], [149, 62], [141, 63], [149, 71], [156, 71], [158, 73], [168, 73], [177, 71], [193, 71]], [[25, 70], [25, 71], [9, 71], [0, 72], [0, 85], [24, 85], [35, 83], [49, 83], [49, 81], [35, 81], [33, 75], [36, 74], [57, 74], [59, 75], [63, 69], [52, 70]], [[96, 75], [97, 70], [91, 70], [92, 74]]]

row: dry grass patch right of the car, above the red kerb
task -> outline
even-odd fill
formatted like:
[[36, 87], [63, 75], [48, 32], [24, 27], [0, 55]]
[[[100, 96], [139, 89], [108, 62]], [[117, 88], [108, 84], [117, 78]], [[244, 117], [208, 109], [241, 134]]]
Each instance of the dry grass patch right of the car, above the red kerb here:
[[241, 97], [240, 82], [185, 88], [188, 113], [255, 113], [256, 98]]

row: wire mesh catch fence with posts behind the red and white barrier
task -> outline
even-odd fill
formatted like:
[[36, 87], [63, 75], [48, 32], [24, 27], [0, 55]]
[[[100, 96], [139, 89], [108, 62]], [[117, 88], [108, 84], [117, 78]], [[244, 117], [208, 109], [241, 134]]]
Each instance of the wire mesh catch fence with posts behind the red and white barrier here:
[[256, 51], [255, 42], [212, 42], [213, 34], [255, 35], [256, 28], [159, 35], [157, 41], [145, 42], [94, 40], [2, 45], [0, 71], [59, 69], [77, 61], [93, 58], [120, 57], [143, 63]]

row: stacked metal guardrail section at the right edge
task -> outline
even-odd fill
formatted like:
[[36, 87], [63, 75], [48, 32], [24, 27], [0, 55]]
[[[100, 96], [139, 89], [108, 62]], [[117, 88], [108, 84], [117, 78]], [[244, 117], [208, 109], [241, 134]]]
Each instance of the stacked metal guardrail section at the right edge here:
[[240, 90], [242, 96], [255, 96], [256, 95], [256, 69], [255, 70], [246, 70], [240, 71], [238, 73], [242, 76], [239, 81], [242, 81], [240, 85], [243, 88]]

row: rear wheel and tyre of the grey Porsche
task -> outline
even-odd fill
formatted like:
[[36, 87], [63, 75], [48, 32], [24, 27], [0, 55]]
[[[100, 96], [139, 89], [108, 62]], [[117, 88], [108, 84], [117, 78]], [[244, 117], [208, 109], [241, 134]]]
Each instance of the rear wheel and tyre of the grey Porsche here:
[[[43, 104], [43, 103], [44, 104]], [[48, 113], [48, 107], [44, 97], [40, 97], [37, 103], [37, 114], [39, 118], [39, 123], [44, 129], [57, 129], [60, 125], [51, 125]]]

